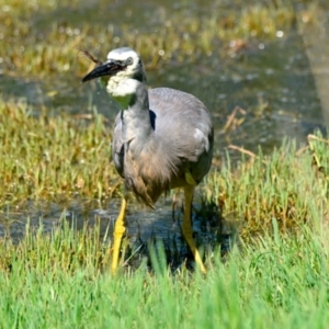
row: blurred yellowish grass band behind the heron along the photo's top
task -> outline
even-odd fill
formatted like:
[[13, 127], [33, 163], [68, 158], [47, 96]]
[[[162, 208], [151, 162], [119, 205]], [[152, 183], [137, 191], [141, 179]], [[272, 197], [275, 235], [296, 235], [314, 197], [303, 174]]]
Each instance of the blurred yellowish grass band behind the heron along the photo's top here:
[[[185, 1], [179, 1], [175, 9], [156, 1], [143, 8], [98, 1], [92, 9], [67, 0], [5, 2], [0, 4], [0, 64], [5, 75], [18, 77], [42, 78], [68, 71], [82, 76], [89, 61], [81, 59], [78, 49], [104, 58], [100, 49], [129, 45], [148, 68], [159, 68], [169, 61], [231, 56], [251, 42], [288, 34], [296, 20], [288, 0], [243, 4], [218, 0], [204, 5], [206, 11], [195, 10]], [[308, 23], [315, 20], [315, 7], [306, 4]], [[149, 18], [140, 26], [146, 13]]]

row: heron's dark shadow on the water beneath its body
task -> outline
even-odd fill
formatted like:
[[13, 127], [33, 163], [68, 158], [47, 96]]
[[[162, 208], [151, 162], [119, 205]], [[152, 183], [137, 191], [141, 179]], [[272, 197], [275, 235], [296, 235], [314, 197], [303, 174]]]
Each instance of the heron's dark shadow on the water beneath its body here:
[[[194, 241], [205, 262], [209, 259], [225, 260], [234, 243], [238, 241], [237, 226], [224, 218], [222, 205], [214, 201], [201, 200], [195, 203], [192, 214]], [[154, 212], [155, 220], [149, 225], [141, 224], [145, 213], [134, 212], [127, 216], [127, 235], [124, 265], [137, 269], [146, 262], [149, 271], [154, 270], [154, 257], [164, 258], [172, 273], [186, 268], [194, 269], [194, 257], [181, 230], [183, 218], [182, 204], [175, 203], [172, 211], [168, 206]], [[163, 223], [167, 223], [163, 229]], [[166, 226], [166, 224], [164, 224]]]

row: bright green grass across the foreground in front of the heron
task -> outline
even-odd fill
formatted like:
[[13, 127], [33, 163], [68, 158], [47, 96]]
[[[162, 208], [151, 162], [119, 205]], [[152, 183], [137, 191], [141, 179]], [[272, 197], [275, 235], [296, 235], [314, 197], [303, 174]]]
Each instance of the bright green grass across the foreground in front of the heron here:
[[295, 236], [281, 236], [274, 222], [273, 236], [235, 249], [225, 263], [215, 253], [205, 277], [172, 275], [161, 258], [155, 272], [141, 266], [113, 277], [98, 235], [68, 227], [1, 243], [1, 326], [327, 328], [329, 231], [314, 220]]

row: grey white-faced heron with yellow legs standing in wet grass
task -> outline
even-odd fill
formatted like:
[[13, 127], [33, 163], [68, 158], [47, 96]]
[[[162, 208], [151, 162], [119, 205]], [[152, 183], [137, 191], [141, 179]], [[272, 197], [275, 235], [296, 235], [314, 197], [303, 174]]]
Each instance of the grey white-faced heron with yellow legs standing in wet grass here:
[[[121, 105], [112, 155], [128, 190], [148, 206], [164, 191], [183, 188], [182, 231], [195, 262], [206, 272], [193, 240], [191, 209], [194, 188], [211, 168], [214, 132], [205, 105], [192, 94], [169, 88], [147, 89], [143, 63], [128, 47], [109, 53], [82, 81], [109, 77], [106, 91]], [[104, 79], [104, 78], [103, 78]], [[114, 227], [112, 272], [125, 228], [126, 194]]]

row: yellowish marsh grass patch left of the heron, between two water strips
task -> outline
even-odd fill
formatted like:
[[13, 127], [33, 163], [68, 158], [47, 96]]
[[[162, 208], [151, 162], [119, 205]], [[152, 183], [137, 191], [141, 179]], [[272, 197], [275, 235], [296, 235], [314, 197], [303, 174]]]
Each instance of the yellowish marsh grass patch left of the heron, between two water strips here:
[[0, 205], [111, 195], [117, 175], [101, 115], [35, 116], [24, 102], [1, 100], [0, 115]]

